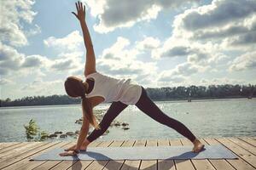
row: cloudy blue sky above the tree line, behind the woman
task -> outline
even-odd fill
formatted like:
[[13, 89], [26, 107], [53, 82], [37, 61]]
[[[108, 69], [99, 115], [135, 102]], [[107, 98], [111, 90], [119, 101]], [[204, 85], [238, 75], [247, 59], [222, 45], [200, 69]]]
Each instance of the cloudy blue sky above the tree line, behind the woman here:
[[[144, 88], [256, 83], [256, 0], [83, 0], [96, 71]], [[75, 1], [0, 0], [0, 99], [85, 80]]]

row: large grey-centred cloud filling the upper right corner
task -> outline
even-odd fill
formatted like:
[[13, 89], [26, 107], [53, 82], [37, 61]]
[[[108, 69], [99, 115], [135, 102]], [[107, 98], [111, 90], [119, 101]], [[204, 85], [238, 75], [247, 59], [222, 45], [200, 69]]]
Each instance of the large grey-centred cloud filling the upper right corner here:
[[173, 21], [173, 37], [218, 44], [222, 50], [253, 48], [256, 42], [256, 2], [213, 0], [190, 8]]

